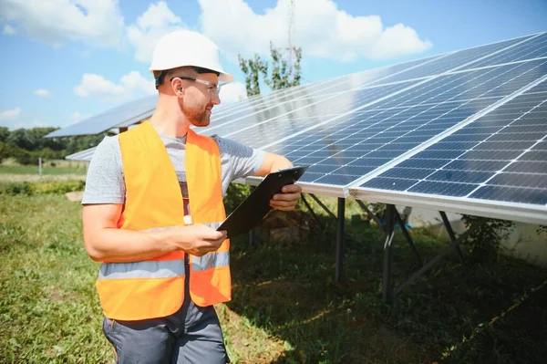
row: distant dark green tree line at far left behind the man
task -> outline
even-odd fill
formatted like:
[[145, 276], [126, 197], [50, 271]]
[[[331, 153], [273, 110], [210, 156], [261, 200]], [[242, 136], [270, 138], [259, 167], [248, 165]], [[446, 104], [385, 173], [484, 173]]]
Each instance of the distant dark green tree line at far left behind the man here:
[[33, 128], [9, 130], [0, 127], [0, 162], [14, 158], [20, 164], [35, 164], [44, 160], [63, 159], [77, 151], [98, 145], [108, 135], [82, 135], [77, 137], [44, 138], [58, 128]]

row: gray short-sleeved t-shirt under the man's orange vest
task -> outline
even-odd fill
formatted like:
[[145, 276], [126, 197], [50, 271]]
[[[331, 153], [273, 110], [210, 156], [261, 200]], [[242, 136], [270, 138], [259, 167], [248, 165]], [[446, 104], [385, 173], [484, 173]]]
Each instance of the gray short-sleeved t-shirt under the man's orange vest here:
[[[173, 168], [181, 185], [182, 196], [185, 198], [185, 209], [188, 207], [188, 191], [186, 187], [185, 155], [186, 137], [170, 138], [160, 135], [165, 145]], [[253, 150], [243, 144], [216, 135], [212, 136], [221, 153], [222, 196], [230, 182], [247, 177], [257, 172], [263, 164], [264, 151]], [[106, 137], [102, 140], [89, 163], [86, 190], [82, 204], [93, 203], [125, 203], [126, 188], [121, 161], [121, 149], [118, 136]]]

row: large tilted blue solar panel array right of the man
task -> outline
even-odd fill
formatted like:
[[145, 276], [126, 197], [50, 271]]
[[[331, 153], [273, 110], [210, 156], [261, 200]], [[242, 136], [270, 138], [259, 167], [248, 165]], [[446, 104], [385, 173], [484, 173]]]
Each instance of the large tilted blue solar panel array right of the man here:
[[539, 33], [253, 97], [196, 130], [309, 164], [306, 192], [545, 224], [545, 78]]

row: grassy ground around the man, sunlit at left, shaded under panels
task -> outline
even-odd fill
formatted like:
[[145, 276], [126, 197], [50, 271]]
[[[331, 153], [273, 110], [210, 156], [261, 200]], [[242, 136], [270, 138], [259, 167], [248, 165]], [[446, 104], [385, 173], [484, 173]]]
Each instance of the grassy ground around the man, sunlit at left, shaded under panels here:
[[[80, 213], [62, 195], [0, 195], [0, 362], [113, 362]], [[545, 362], [545, 269], [450, 255], [387, 305], [381, 230], [347, 219], [346, 279], [335, 283], [335, 224], [321, 220], [297, 240], [262, 230], [254, 246], [232, 241], [233, 299], [216, 307], [232, 362]], [[412, 234], [426, 258], [447, 244]], [[400, 282], [415, 261], [400, 234], [395, 246]]]

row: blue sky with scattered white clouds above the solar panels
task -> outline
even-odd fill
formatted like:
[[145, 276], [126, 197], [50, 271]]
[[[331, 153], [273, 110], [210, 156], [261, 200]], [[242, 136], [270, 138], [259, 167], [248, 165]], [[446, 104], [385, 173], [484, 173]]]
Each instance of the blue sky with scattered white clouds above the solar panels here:
[[[306, 81], [547, 30], [547, 1], [295, 0]], [[159, 36], [210, 36], [243, 97], [237, 54], [285, 47], [288, 0], [0, 0], [0, 126], [66, 126], [154, 92]]]

